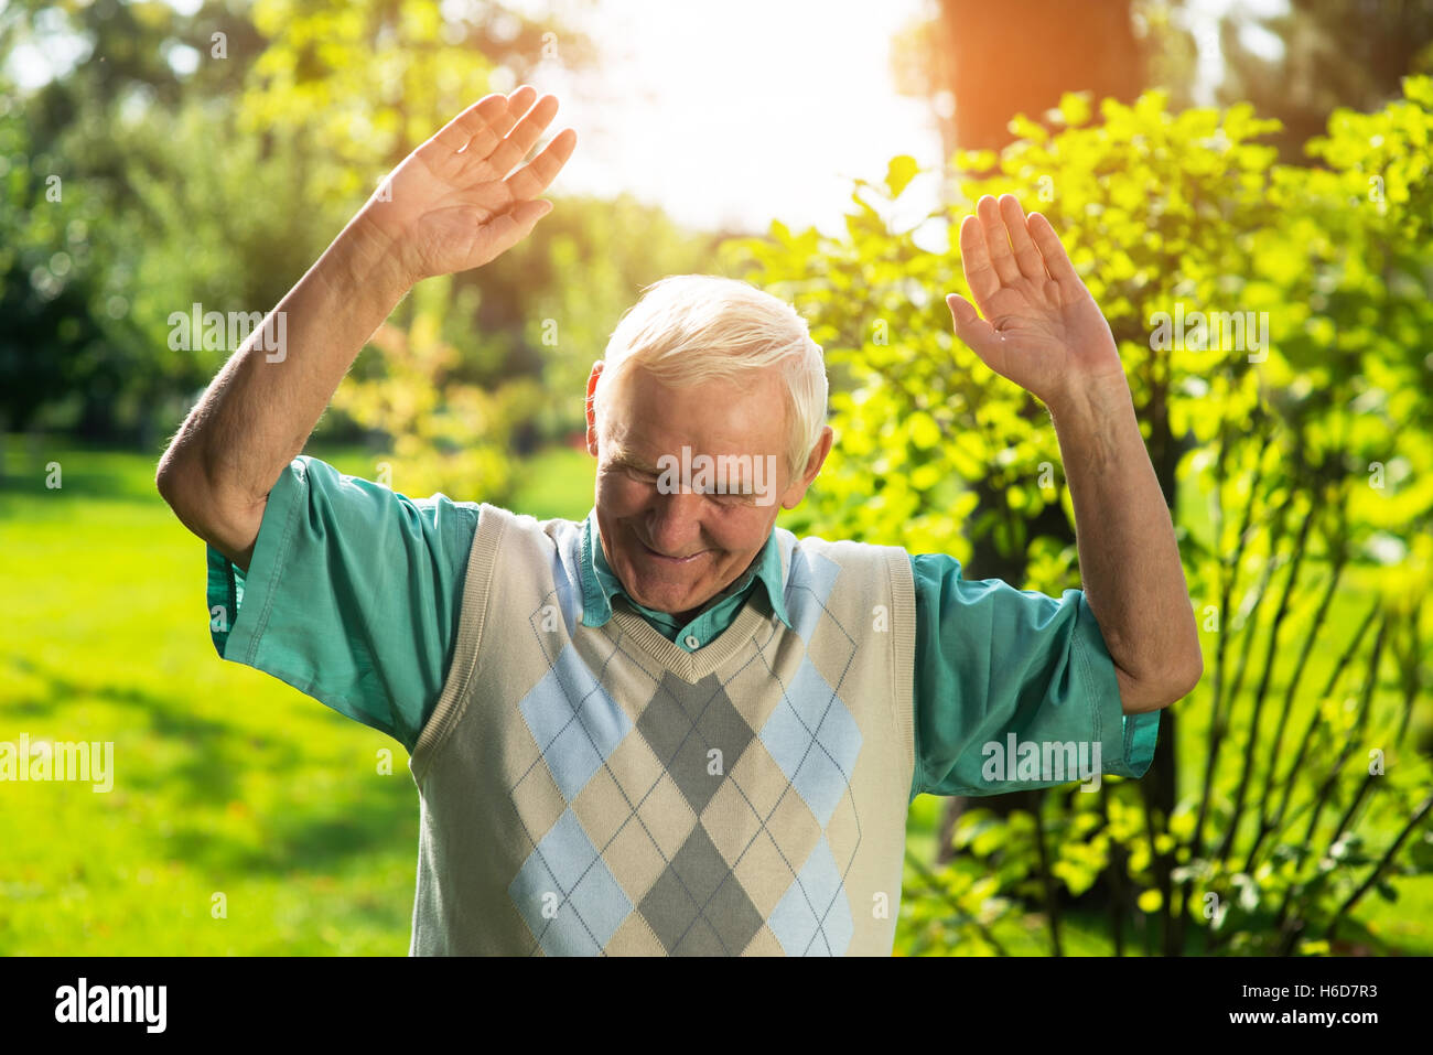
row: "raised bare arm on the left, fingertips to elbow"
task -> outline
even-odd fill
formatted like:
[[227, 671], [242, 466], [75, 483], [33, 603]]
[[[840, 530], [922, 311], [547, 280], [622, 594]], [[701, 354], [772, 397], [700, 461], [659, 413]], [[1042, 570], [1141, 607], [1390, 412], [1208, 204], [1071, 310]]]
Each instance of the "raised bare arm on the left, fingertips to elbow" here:
[[527, 86], [486, 96], [408, 155], [385, 181], [388, 194], [350, 221], [175, 434], [155, 474], [159, 493], [241, 571], [252, 560], [274, 482], [408, 288], [492, 261], [550, 211], [536, 195], [570, 156], [570, 129], [507, 175], [556, 113], [553, 96], [536, 105], [535, 97]]

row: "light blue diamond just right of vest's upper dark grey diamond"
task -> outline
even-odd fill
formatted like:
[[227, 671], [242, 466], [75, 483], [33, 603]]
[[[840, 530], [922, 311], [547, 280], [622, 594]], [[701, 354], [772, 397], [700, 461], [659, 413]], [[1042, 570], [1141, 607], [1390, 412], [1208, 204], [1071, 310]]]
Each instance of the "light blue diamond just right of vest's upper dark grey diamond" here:
[[850, 786], [861, 730], [810, 657], [762, 725], [761, 743], [824, 829]]

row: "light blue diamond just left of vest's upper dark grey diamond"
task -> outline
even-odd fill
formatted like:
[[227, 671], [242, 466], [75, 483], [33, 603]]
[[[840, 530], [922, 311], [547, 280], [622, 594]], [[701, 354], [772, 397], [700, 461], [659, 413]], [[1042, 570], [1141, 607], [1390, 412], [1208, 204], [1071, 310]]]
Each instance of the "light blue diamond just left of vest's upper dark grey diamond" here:
[[632, 728], [570, 642], [517, 710], [569, 803]]

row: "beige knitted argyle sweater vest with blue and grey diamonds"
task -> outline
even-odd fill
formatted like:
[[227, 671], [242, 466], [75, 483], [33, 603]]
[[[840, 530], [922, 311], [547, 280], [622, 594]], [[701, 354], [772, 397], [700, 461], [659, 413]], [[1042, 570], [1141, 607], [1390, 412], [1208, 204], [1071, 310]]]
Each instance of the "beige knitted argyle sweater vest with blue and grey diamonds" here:
[[685, 652], [583, 526], [483, 505], [457, 644], [410, 758], [410, 955], [888, 956], [914, 765], [904, 550], [775, 529], [761, 591]]

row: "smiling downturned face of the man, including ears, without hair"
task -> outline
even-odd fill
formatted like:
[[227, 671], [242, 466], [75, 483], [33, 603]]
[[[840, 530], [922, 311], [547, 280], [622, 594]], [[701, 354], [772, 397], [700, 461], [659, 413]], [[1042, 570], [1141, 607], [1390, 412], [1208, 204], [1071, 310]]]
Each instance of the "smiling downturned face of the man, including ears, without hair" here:
[[[589, 396], [599, 373], [600, 364], [588, 383]], [[603, 391], [602, 429], [590, 410], [588, 429], [588, 449], [598, 457], [598, 529], [608, 563], [635, 601], [691, 618], [747, 571], [777, 513], [801, 502], [830, 449], [827, 430], [807, 473], [792, 480], [787, 414], [775, 368], [691, 386], [666, 386], [633, 368]], [[728, 480], [728, 492], [744, 493], [695, 489], [704, 454], [709, 464], [725, 456], [731, 459], [725, 466], [751, 466]], [[675, 489], [674, 473], [663, 477], [674, 463]], [[772, 463], [774, 480], [767, 474]]]

